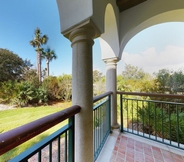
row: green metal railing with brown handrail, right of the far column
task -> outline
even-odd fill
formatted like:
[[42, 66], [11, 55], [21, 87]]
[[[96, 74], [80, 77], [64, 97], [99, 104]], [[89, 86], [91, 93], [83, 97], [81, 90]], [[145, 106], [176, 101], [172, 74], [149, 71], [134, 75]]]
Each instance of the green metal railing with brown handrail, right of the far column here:
[[184, 96], [117, 92], [121, 131], [184, 150]]

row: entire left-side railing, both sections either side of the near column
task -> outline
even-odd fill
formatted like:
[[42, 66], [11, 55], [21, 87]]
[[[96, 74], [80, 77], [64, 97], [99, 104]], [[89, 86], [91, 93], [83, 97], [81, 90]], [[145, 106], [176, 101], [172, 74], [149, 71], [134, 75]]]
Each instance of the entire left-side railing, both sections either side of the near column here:
[[[111, 94], [107, 92], [93, 98], [93, 138], [94, 159], [96, 160], [111, 132]], [[68, 119], [68, 124], [47, 136], [32, 147], [10, 160], [14, 161], [74, 161], [74, 115], [80, 112], [79, 106], [43, 117], [26, 125], [0, 134], [0, 155], [45, 132], [56, 124]]]

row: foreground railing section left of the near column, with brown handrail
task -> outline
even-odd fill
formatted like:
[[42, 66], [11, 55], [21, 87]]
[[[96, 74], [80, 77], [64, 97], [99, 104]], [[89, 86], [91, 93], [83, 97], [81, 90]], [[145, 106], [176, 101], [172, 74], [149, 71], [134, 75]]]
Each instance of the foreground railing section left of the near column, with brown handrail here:
[[[63, 111], [0, 134], [0, 155], [48, 130], [54, 125], [61, 123], [65, 119], [69, 119], [67, 125], [11, 159], [10, 162], [31, 161], [30, 158], [33, 157], [33, 155], [37, 155], [36, 161], [38, 162], [45, 160], [45, 158], [52, 161], [53, 152], [56, 151], [55, 160], [65, 162], [74, 161], [74, 115], [79, 113], [80, 109], [79, 106], [72, 106]], [[53, 144], [57, 145], [54, 149], [52, 147]], [[47, 151], [43, 151], [45, 147], [47, 147]]]

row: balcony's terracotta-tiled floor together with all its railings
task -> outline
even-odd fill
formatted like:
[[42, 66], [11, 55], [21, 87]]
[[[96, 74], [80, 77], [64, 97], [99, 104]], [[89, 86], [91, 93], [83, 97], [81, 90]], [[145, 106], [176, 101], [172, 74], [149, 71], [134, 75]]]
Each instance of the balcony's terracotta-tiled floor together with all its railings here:
[[[107, 92], [93, 98], [95, 161], [184, 161], [183, 96], [117, 92], [120, 129], [113, 130], [111, 96]], [[0, 154], [68, 119], [67, 125], [10, 161], [75, 161], [75, 115], [80, 110], [72, 106], [0, 134]]]

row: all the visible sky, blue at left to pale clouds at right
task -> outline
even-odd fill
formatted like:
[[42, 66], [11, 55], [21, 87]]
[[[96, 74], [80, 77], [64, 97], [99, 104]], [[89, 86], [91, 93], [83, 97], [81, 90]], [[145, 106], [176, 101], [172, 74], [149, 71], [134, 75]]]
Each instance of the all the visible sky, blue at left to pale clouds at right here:
[[[72, 50], [70, 42], [60, 34], [56, 1], [1, 0], [0, 48], [31, 60], [35, 66], [36, 52], [29, 41], [33, 39], [36, 27], [48, 35], [46, 46], [54, 49], [58, 56], [50, 63], [51, 75], [71, 74]], [[181, 67], [184, 65], [184, 23], [165, 23], [140, 32], [127, 44], [122, 59], [118, 63], [118, 73], [125, 64], [148, 72]], [[93, 47], [93, 62], [94, 69], [105, 73], [98, 40]], [[45, 67], [44, 62], [42, 66]]]

